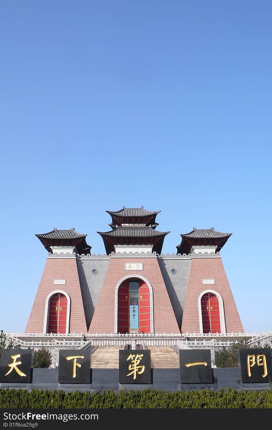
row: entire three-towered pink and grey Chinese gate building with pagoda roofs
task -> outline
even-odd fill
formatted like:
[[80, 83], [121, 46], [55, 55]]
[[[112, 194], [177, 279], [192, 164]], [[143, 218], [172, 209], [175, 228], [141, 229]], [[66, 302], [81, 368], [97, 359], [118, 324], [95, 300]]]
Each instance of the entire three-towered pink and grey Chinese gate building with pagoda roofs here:
[[160, 211], [107, 212], [105, 255], [74, 228], [36, 234], [49, 254], [26, 333], [244, 332], [219, 255], [232, 233], [194, 227], [164, 255]]

